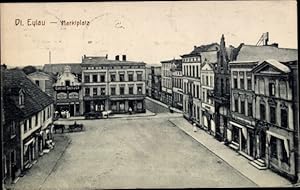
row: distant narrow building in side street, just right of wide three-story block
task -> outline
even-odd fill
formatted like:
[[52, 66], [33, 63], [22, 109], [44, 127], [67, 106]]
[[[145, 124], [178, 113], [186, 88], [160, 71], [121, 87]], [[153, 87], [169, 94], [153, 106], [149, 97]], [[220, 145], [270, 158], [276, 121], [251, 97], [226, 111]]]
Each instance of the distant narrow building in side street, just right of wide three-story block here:
[[146, 67], [148, 70], [147, 76], [147, 96], [160, 100], [161, 98], [161, 65], [153, 64]]

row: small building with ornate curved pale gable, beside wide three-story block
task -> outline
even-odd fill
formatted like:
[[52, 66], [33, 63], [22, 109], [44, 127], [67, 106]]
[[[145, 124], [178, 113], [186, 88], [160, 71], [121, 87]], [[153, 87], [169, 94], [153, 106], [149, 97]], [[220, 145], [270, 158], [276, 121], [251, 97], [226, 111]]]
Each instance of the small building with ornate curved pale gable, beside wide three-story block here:
[[[70, 66], [65, 66], [64, 72], [58, 74], [56, 83], [53, 84], [55, 110], [61, 113], [68, 111], [70, 116], [78, 116], [82, 113], [81, 81], [71, 72]], [[81, 111], [80, 111], [81, 110]]]

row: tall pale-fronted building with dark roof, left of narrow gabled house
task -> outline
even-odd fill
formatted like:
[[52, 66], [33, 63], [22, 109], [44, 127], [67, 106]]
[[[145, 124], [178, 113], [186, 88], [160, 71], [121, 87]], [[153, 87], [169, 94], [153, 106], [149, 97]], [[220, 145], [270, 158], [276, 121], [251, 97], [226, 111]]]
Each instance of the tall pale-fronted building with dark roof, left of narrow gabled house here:
[[182, 55], [183, 72], [183, 115], [188, 120], [202, 126], [201, 112], [201, 64], [203, 52], [215, 52], [219, 50], [217, 43], [194, 47], [194, 50]]

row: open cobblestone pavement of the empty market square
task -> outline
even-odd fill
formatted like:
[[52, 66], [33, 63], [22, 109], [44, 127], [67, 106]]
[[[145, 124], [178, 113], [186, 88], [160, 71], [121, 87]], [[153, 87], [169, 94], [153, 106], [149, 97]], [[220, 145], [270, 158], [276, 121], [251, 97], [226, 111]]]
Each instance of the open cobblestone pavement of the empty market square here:
[[180, 114], [82, 120], [86, 130], [66, 133], [72, 140], [67, 149], [58, 143], [57, 152], [45, 156], [57, 154], [50, 164], [39, 161], [15, 189], [256, 186], [170, 123], [170, 116]]

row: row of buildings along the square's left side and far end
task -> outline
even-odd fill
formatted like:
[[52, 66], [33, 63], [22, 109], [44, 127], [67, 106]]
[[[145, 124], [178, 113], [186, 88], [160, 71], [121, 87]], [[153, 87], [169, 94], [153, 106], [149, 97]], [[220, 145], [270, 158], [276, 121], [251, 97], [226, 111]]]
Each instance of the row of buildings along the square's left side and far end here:
[[145, 63], [119, 58], [84, 55], [81, 63], [46, 64], [28, 75], [1, 66], [2, 184], [9, 188], [53, 148], [57, 113], [146, 111]]

